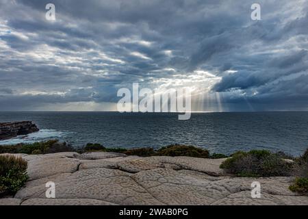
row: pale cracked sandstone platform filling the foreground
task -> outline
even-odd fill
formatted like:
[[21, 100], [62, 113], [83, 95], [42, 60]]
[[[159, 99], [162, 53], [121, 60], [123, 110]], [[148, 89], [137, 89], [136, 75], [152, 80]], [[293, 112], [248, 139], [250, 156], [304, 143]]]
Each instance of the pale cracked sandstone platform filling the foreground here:
[[[138, 157], [120, 153], [17, 154], [29, 181], [0, 205], [308, 205], [288, 187], [292, 177], [238, 178], [219, 168], [224, 159]], [[46, 183], [55, 183], [47, 198]], [[261, 198], [251, 197], [251, 183]]]

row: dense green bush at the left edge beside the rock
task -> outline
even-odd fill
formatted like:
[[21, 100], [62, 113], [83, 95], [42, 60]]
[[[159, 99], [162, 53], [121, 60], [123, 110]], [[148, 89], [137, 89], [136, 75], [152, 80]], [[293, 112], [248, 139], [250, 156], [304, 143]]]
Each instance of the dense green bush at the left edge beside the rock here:
[[27, 162], [14, 155], [0, 155], [0, 194], [14, 194], [27, 181]]

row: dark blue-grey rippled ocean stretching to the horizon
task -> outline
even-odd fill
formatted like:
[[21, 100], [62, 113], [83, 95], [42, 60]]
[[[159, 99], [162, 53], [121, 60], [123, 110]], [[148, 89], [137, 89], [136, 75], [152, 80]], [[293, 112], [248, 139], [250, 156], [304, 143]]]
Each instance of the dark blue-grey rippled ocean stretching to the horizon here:
[[158, 149], [190, 144], [211, 153], [268, 149], [300, 155], [308, 148], [308, 112], [193, 113], [178, 120], [177, 113], [118, 112], [0, 112], [0, 122], [31, 120], [37, 133], [2, 144], [59, 139], [76, 148], [87, 143], [106, 147]]

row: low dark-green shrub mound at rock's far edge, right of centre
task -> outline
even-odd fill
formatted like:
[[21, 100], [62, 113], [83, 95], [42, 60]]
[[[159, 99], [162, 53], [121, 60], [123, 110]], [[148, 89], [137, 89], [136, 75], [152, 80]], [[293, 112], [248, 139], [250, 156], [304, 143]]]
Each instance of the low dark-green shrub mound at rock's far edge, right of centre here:
[[169, 146], [164, 146], [157, 150], [157, 156], [186, 156], [186, 157], [201, 157], [209, 158], [209, 151], [205, 149], [200, 149], [195, 146], [186, 146], [180, 144], [173, 144]]

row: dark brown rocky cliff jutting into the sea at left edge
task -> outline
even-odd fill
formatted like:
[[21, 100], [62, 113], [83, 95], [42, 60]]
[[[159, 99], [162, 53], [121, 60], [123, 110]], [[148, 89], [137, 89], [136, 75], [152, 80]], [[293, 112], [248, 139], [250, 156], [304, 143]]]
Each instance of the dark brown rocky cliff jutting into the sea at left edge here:
[[0, 140], [7, 140], [36, 131], [39, 131], [39, 129], [31, 121], [0, 123]]

